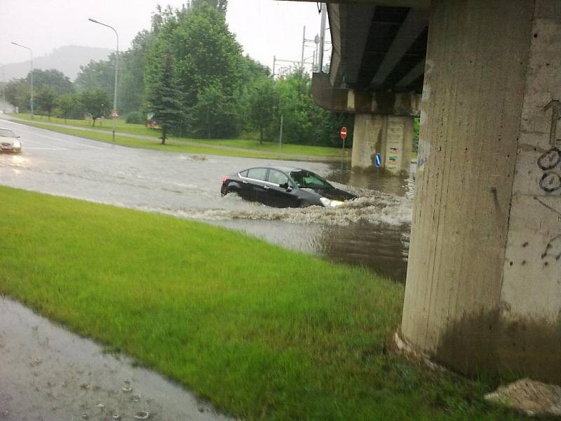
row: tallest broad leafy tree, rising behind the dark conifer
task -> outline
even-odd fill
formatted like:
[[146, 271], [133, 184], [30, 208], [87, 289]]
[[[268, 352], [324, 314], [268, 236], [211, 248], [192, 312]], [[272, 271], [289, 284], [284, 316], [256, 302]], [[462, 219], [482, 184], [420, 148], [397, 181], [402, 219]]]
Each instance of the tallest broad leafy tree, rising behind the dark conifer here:
[[[225, 7], [225, 3], [222, 2]], [[198, 137], [238, 133], [241, 121], [237, 98], [241, 93], [241, 46], [229, 32], [224, 13], [206, 0], [189, 8], [158, 9], [153, 18], [155, 39], [147, 55], [146, 88], [154, 91], [158, 57], [173, 55], [181, 117], [175, 127]], [[147, 101], [150, 102], [150, 101]], [[179, 117], [178, 117], [179, 118]]]

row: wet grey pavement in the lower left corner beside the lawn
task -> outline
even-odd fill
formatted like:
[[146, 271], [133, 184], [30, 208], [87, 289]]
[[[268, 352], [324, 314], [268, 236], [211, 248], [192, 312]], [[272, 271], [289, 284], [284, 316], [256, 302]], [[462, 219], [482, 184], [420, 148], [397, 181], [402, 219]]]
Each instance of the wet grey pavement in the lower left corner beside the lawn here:
[[0, 421], [231, 419], [131, 362], [0, 297]]

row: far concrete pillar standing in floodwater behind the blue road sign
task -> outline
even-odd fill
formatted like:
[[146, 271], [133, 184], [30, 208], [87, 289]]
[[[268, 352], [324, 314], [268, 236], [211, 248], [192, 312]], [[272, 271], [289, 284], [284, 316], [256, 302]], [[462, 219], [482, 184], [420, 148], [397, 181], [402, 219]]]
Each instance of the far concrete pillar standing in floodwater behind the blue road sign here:
[[382, 156], [381, 167], [397, 174], [409, 172], [414, 137], [414, 117], [355, 114], [353, 168], [374, 166], [374, 156]]

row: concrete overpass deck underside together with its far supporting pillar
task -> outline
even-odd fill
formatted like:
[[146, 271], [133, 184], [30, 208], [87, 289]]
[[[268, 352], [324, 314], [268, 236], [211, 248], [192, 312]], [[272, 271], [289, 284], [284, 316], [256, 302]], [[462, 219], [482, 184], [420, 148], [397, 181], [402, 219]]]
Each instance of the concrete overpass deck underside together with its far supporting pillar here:
[[[392, 173], [409, 171], [413, 117], [419, 116], [428, 36], [428, 1], [327, 4], [329, 74], [313, 75], [313, 97], [355, 114], [353, 167], [377, 152]], [[414, 6], [414, 7], [413, 7]]]

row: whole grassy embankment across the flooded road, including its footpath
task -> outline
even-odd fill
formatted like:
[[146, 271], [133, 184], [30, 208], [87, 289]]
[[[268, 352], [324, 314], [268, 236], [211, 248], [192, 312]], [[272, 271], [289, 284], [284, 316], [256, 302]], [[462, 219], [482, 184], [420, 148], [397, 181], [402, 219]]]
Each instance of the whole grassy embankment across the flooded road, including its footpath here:
[[[31, 118], [29, 114], [11, 114], [13, 117], [25, 120], [29, 126], [35, 126], [39, 128], [46, 128], [47, 130], [57, 131], [59, 133], [65, 133], [69, 135], [78, 135], [83, 138], [89, 138], [93, 140], [100, 140], [102, 142], [111, 142], [112, 138], [109, 133], [111, 133], [111, 120], [105, 120], [103, 126], [100, 126], [100, 121], [95, 123], [95, 127], [91, 126], [91, 123], [86, 120], [73, 120], [73, 119], [58, 119], [56, 117], [51, 117], [50, 121], [46, 116], [35, 116], [34, 121], [30, 121]], [[58, 126], [50, 126], [45, 123], [56, 123], [64, 124], [66, 126], [73, 126], [76, 129], [82, 130], [72, 130], [72, 128], [62, 128]], [[107, 131], [107, 135], [102, 133], [94, 133], [92, 131], [84, 131], [83, 129], [95, 129], [101, 131]], [[290, 159], [290, 155], [295, 156], [312, 156], [317, 159], [321, 158], [337, 158], [342, 156], [341, 149], [333, 147], [323, 147], [323, 146], [309, 146], [309, 145], [290, 145], [285, 144], [282, 148], [278, 147], [277, 142], [263, 142], [259, 145], [258, 140], [247, 140], [247, 139], [194, 139], [194, 138], [176, 138], [171, 137], [168, 140], [168, 145], [160, 145], [160, 140], [158, 136], [160, 132], [151, 128], [146, 128], [142, 124], [128, 124], [125, 121], [118, 119], [116, 121], [116, 142], [119, 145], [129, 146], [129, 147], [144, 147], [148, 149], [158, 149], [170, 152], [184, 152], [184, 153], [194, 153], [194, 154], [215, 154], [215, 155], [227, 155], [227, 156], [247, 156], [250, 158], [264, 158], [264, 159]], [[130, 135], [140, 135], [148, 136], [149, 139], [137, 139], [137, 138], [127, 138], [124, 136], [119, 136], [119, 133], [127, 133]], [[209, 147], [212, 145], [214, 147]], [[225, 148], [216, 148], [217, 146], [222, 146]], [[229, 147], [240, 148], [245, 150], [229, 149]], [[350, 152], [347, 151], [346, 156], [350, 156]]]

